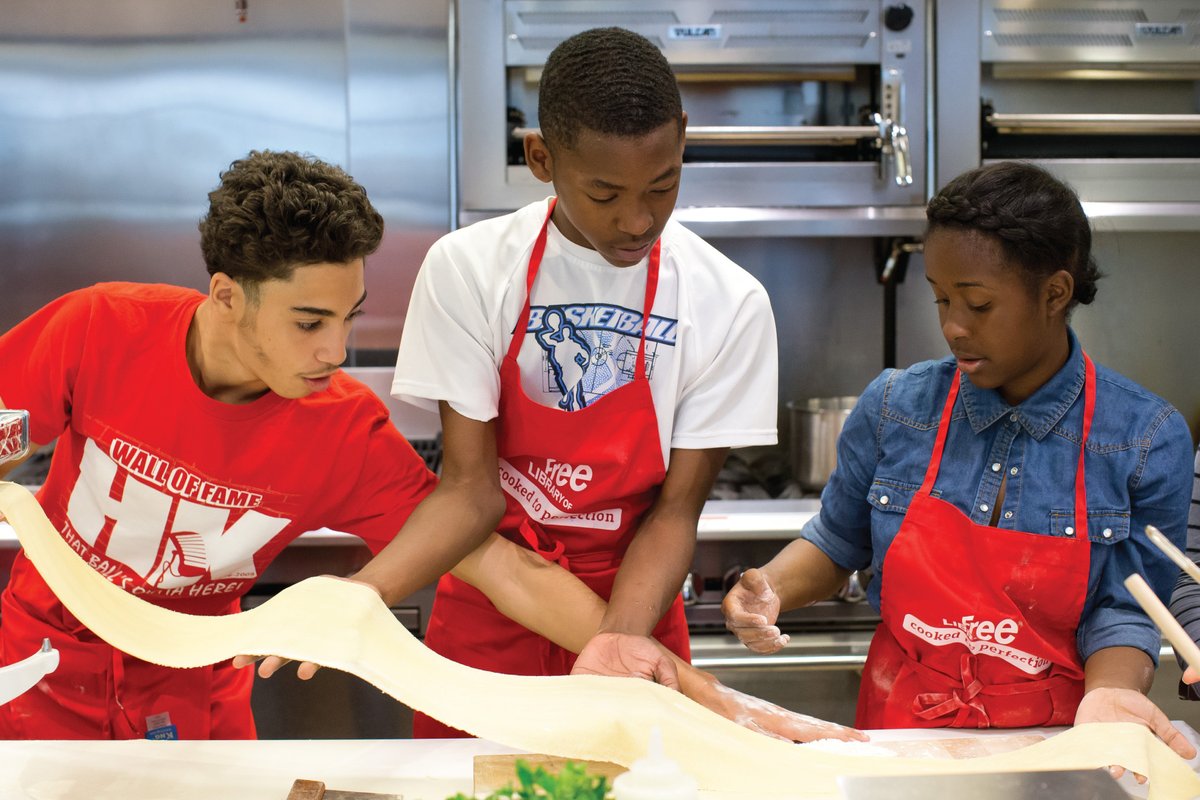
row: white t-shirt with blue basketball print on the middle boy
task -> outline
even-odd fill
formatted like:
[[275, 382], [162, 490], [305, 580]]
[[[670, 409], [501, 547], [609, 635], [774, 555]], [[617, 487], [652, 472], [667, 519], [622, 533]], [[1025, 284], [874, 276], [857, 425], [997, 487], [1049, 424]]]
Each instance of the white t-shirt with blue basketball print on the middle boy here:
[[[395, 397], [497, 416], [499, 367], [547, 201], [443, 236], [413, 288]], [[775, 319], [750, 273], [673, 219], [662, 231], [646, 362], [662, 458], [776, 441]], [[649, 258], [617, 267], [551, 224], [521, 354], [526, 393], [575, 410], [634, 379]]]

